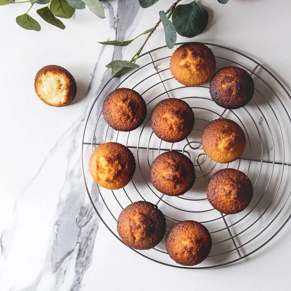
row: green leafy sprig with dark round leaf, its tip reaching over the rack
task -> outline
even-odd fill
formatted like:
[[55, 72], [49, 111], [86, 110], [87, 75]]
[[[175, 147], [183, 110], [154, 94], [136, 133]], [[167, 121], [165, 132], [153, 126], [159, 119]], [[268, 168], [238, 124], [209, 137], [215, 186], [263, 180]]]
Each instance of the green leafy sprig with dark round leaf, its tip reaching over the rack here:
[[[157, 3], [159, 0], [139, 0], [140, 5], [143, 8], [150, 7]], [[108, 68], [112, 68], [112, 76], [116, 77], [123, 73], [124, 71], [136, 68], [138, 65], [135, 64], [138, 59], [142, 49], [144, 48], [150, 35], [156, 30], [157, 26], [162, 22], [165, 34], [166, 45], [169, 49], [174, 48], [177, 40], [177, 33], [185, 37], [194, 37], [204, 31], [208, 24], [209, 15], [206, 9], [200, 7], [196, 0], [189, 4], [178, 4], [181, 0], [177, 0], [169, 10], [160, 11], [160, 20], [152, 29], [141, 33], [134, 39], [128, 41], [105, 41], [100, 42], [102, 45], [112, 45], [112, 46], [128, 46], [133, 40], [140, 37], [143, 34], [148, 34], [145, 43], [138, 50], [138, 52], [132, 57], [130, 61], [114, 60], [110, 64], [106, 65]], [[226, 4], [228, 0], [218, 0], [221, 4]], [[172, 16], [172, 21], [170, 17]]]

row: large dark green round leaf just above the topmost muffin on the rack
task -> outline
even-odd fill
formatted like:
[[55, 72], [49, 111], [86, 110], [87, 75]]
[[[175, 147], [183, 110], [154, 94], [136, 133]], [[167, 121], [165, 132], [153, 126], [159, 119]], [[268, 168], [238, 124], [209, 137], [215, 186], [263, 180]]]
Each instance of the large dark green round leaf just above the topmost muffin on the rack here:
[[181, 36], [194, 37], [204, 31], [208, 18], [207, 10], [193, 1], [178, 5], [173, 12], [172, 21]]

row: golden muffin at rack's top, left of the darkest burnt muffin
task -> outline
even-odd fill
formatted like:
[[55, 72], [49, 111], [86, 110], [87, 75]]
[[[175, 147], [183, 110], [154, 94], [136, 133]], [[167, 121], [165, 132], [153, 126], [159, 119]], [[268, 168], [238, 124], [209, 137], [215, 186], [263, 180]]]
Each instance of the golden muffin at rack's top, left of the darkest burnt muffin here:
[[215, 57], [210, 48], [200, 43], [188, 43], [174, 51], [170, 70], [178, 82], [194, 87], [210, 80], [215, 72], [215, 65]]

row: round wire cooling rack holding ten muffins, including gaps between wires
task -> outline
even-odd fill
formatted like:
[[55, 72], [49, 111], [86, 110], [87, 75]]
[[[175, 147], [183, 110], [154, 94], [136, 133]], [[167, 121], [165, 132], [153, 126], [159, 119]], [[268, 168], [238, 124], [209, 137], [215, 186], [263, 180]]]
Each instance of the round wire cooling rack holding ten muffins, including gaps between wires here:
[[[116, 229], [118, 215], [130, 203], [139, 200], [158, 205], [166, 217], [166, 233], [182, 220], [195, 220], [209, 229], [213, 243], [210, 256], [194, 267], [180, 266], [170, 259], [165, 249], [165, 237], [153, 249], [133, 250], [152, 261], [187, 269], [219, 267], [244, 259], [270, 242], [291, 217], [288, 207], [291, 156], [290, 151], [286, 150], [291, 145], [288, 134], [291, 118], [287, 111], [291, 108], [290, 94], [269, 70], [249, 56], [220, 45], [204, 44], [213, 51], [217, 69], [236, 65], [250, 73], [255, 82], [255, 94], [251, 102], [241, 109], [224, 110], [212, 101], [209, 84], [185, 87], [173, 79], [169, 70], [171, 50], [166, 47], [153, 49], [139, 57], [140, 68], [121, 82], [116, 78], [110, 79], [98, 93], [86, 121], [81, 153], [89, 198], [101, 221], [119, 241]], [[131, 132], [115, 131], [103, 119], [103, 101], [119, 87], [132, 88], [146, 100], [146, 120]], [[192, 133], [184, 141], [175, 144], [160, 140], [150, 127], [153, 107], [162, 99], [172, 97], [188, 102], [195, 115]], [[211, 120], [225, 117], [242, 127], [247, 146], [241, 159], [219, 164], [205, 155], [200, 138]], [[123, 189], [114, 191], [98, 187], [88, 167], [94, 148], [109, 141], [128, 146], [137, 162], [131, 182]], [[182, 196], [163, 195], [150, 183], [151, 163], [168, 150], [182, 152], [194, 163], [196, 181], [193, 188]], [[235, 215], [214, 210], [206, 198], [205, 187], [209, 178], [225, 167], [243, 171], [254, 187], [254, 197], [249, 207]]]

